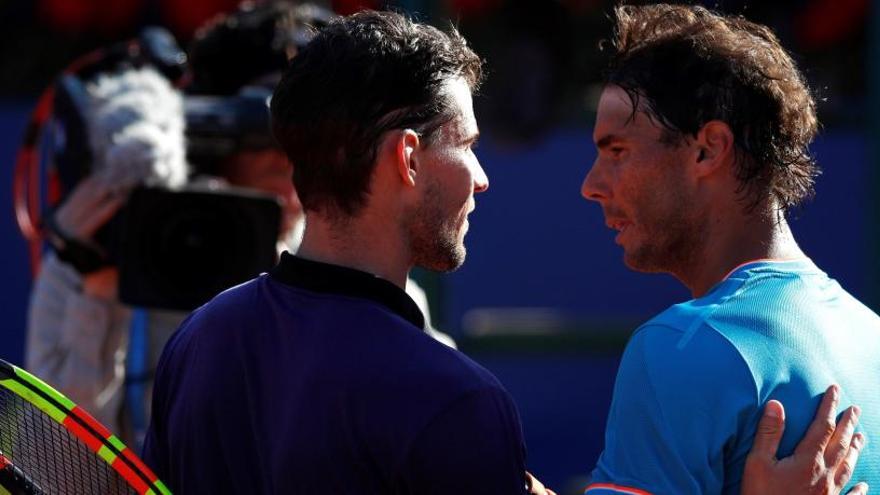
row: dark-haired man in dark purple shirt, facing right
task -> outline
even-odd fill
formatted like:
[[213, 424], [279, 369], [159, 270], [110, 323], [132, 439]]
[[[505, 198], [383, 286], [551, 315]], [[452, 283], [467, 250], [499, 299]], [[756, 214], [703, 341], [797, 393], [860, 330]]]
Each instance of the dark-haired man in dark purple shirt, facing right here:
[[456, 32], [392, 13], [333, 22], [294, 59], [272, 120], [302, 245], [167, 345], [145, 457], [173, 490], [525, 493], [510, 396], [425, 334], [404, 292], [413, 266], [464, 261], [488, 187], [480, 79]]

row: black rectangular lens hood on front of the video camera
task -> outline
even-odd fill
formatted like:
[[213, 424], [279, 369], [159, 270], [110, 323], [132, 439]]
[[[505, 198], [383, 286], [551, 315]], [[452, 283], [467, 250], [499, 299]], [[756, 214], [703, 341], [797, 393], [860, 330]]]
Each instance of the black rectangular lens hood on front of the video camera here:
[[119, 298], [192, 310], [270, 269], [280, 225], [272, 195], [137, 188], [120, 212]]

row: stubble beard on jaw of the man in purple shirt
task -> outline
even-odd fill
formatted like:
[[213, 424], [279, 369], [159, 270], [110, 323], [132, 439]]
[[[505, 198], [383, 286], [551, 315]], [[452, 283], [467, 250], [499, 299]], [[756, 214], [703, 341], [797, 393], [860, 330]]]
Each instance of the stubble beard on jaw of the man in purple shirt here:
[[421, 203], [406, 222], [416, 266], [450, 272], [460, 267], [467, 250], [462, 239], [464, 220], [458, 210], [453, 214], [444, 210], [443, 193], [436, 184], [428, 186]]

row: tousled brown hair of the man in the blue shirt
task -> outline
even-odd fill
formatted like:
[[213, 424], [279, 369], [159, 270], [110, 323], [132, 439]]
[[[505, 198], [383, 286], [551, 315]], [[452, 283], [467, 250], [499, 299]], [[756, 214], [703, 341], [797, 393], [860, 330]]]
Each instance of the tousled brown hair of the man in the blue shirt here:
[[733, 131], [735, 174], [749, 208], [772, 198], [788, 210], [813, 195], [816, 104], [769, 28], [698, 6], [622, 5], [615, 14], [606, 83], [661, 125], [664, 141], [723, 121]]

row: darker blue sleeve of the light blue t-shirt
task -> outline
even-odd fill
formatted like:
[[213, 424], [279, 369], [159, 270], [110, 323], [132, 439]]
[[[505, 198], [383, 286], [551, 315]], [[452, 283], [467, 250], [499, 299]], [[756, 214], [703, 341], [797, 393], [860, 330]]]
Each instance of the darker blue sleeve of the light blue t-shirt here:
[[585, 493], [730, 493], [742, 475], [730, 469], [738, 431], [756, 407], [748, 367], [717, 332], [641, 328], [624, 352]]

